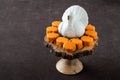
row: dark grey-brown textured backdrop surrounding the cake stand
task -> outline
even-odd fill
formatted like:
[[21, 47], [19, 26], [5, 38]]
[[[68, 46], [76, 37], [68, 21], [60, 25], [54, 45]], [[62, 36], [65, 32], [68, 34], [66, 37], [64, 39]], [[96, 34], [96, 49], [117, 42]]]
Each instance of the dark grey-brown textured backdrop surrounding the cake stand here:
[[[99, 33], [95, 55], [81, 58], [84, 70], [60, 74], [60, 59], [43, 44], [45, 28], [78, 4]], [[0, 0], [0, 80], [120, 80], [120, 1]]]

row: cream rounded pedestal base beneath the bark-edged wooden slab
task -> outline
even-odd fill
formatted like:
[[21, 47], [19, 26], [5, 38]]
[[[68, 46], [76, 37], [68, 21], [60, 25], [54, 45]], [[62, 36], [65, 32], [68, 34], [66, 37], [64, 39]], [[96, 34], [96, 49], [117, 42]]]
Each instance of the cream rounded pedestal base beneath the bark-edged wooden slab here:
[[73, 75], [82, 71], [83, 64], [79, 59], [60, 59], [56, 64], [56, 68], [62, 74]]

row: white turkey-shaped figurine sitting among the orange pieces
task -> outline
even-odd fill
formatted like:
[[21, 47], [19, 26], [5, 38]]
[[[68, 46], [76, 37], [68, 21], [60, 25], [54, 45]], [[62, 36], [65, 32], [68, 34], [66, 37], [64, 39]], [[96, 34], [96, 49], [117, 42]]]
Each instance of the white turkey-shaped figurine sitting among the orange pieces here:
[[61, 35], [69, 38], [81, 37], [87, 25], [88, 14], [85, 9], [73, 5], [64, 12], [58, 31]]

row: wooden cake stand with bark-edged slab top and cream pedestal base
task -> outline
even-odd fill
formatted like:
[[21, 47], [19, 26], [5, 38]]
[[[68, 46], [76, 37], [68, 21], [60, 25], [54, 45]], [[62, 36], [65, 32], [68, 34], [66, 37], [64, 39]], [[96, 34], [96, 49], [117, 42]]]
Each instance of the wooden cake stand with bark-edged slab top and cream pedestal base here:
[[53, 43], [49, 43], [46, 37], [44, 38], [44, 43], [47, 48], [50, 48], [50, 53], [62, 58], [56, 63], [56, 68], [60, 73], [66, 75], [73, 75], [81, 72], [83, 64], [78, 58], [92, 55], [95, 48], [98, 46], [98, 42], [95, 41], [94, 46], [84, 47], [74, 53], [68, 53], [63, 48], [60, 48]]

